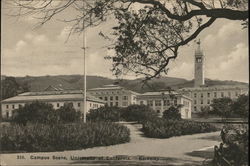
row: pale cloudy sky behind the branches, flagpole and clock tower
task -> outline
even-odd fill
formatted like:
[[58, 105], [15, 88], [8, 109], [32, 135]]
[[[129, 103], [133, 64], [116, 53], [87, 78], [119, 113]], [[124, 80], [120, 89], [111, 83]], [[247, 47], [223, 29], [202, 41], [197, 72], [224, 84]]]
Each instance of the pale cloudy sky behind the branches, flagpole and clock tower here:
[[[71, 16], [70, 11], [36, 28], [37, 19], [32, 16], [12, 17], [1, 10], [1, 74], [8, 76], [44, 76], [83, 74], [82, 35], [72, 35], [67, 40], [70, 25], [57, 18]], [[13, 9], [14, 10], [14, 9]], [[86, 31], [88, 75], [115, 78], [110, 71], [112, 63], [104, 57], [107, 41], [99, 32], [109, 33], [114, 21], [106, 21]], [[218, 80], [249, 82], [248, 29], [242, 29], [240, 21], [217, 19], [198, 38], [205, 55], [205, 77]], [[167, 76], [193, 79], [194, 51], [192, 41], [179, 51], [170, 63]], [[133, 73], [122, 76], [136, 78]]]

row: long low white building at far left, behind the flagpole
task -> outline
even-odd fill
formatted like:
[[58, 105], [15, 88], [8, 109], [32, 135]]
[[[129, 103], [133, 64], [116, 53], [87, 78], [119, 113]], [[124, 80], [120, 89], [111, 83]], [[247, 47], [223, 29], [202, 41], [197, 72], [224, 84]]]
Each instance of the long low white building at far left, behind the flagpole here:
[[[76, 111], [83, 112], [83, 93], [80, 90], [55, 90], [43, 92], [26, 92], [1, 101], [2, 117], [12, 117], [13, 110], [24, 106], [27, 103], [41, 101], [53, 105], [54, 109], [59, 109], [65, 103], [72, 103]], [[87, 112], [105, 105], [105, 101], [95, 98], [87, 93]]]

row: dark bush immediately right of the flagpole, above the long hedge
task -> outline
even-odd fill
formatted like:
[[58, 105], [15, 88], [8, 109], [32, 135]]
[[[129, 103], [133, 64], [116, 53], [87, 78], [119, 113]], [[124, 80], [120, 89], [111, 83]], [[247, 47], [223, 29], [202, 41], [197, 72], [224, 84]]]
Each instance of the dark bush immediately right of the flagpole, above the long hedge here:
[[90, 121], [117, 122], [121, 120], [121, 109], [108, 106], [93, 109], [87, 114], [87, 119]]

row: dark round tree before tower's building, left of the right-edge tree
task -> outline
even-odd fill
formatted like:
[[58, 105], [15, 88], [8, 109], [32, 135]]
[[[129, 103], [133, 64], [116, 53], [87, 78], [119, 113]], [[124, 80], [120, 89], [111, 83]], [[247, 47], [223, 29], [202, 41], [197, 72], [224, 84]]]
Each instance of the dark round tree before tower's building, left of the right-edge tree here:
[[221, 116], [222, 118], [229, 118], [232, 115], [231, 105], [233, 101], [229, 97], [213, 99], [212, 104], [212, 111], [214, 114]]

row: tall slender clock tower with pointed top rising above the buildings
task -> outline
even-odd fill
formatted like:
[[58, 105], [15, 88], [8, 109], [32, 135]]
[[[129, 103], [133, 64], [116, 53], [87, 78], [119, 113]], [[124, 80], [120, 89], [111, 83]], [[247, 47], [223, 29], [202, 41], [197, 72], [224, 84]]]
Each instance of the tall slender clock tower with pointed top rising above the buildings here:
[[201, 50], [201, 42], [200, 39], [197, 42], [197, 49], [195, 50], [195, 58], [194, 58], [194, 86], [199, 87], [204, 85], [204, 60], [205, 57]]

